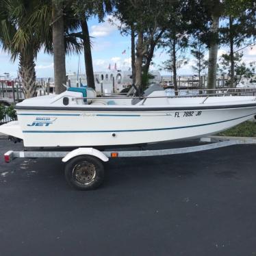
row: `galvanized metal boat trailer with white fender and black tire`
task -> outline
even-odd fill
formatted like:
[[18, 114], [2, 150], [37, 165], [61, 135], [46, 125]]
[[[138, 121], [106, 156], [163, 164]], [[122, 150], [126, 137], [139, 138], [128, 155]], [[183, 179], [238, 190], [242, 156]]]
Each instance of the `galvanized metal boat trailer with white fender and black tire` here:
[[6, 163], [9, 163], [15, 158], [62, 158], [62, 162], [66, 163], [66, 181], [79, 190], [92, 190], [98, 188], [103, 182], [103, 162], [107, 162], [110, 158], [149, 157], [207, 151], [238, 144], [256, 144], [256, 138], [209, 136], [201, 138], [200, 142], [208, 144], [176, 149], [140, 149], [136, 151], [99, 151], [88, 147], [81, 147], [73, 151], [8, 151], [4, 154], [4, 159]]

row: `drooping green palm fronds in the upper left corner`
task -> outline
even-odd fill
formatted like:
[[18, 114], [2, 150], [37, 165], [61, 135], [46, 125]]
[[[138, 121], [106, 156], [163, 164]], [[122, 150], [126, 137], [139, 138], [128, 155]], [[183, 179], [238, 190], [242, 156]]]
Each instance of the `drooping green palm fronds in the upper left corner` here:
[[[65, 1], [64, 1], [65, 2]], [[81, 51], [81, 44], [71, 35], [79, 29], [71, 5], [64, 8], [64, 32], [66, 52]], [[47, 0], [1, 0], [0, 1], [0, 42], [5, 51], [12, 55], [12, 60], [19, 53], [38, 51], [45, 47], [47, 53], [52, 48], [52, 3]]]

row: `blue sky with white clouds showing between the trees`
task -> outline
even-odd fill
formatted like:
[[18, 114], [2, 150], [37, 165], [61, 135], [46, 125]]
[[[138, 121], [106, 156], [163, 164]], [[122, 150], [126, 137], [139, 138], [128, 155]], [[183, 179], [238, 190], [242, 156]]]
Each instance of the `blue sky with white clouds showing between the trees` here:
[[[94, 71], [107, 71], [109, 65], [114, 68], [114, 64], [118, 69], [128, 70], [131, 63], [130, 54], [130, 38], [123, 36], [118, 30], [118, 21], [110, 23], [108, 21], [111, 16], [107, 16], [104, 23], [99, 23], [97, 18], [92, 18], [88, 21], [90, 36], [92, 36], [92, 61]], [[114, 24], [113, 24], [114, 23]], [[125, 51], [125, 53], [123, 53]], [[225, 53], [225, 47], [219, 49], [218, 56]], [[207, 53], [205, 54], [207, 57]], [[192, 75], [192, 56], [188, 54], [188, 64], [181, 67], [177, 73], [178, 75]], [[168, 53], [159, 49], [155, 52], [153, 58], [153, 66], [151, 70], [159, 70], [164, 60], [168, 59]], [[256, 61], [256, 46], [252, 49], [250, 47], [244, 49], [244, 58], [246, 63]], [[85, 73], [84, 55], [72, 54], [66, 55], [66, 73], [77, 72]], [[10, 55], [1, 51], [0, 49], [0, 76], [3, 73], [10, 73], [12, 78], [17, 77], [18, 62], [11, 62]], [[168, 75], [167, 71], [161, 71], [162, 75]], [[41, 50], [38, 53], [36, 60], [36, 76], [37, 77], [53, 77], [53, 55], [48, 55]]]

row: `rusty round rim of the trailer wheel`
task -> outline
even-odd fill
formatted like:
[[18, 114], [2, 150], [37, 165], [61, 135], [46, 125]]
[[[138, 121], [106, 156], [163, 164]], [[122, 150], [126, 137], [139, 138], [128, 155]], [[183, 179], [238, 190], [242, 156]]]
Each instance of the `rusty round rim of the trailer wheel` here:
[[72, 172], [73, 179], [83, 185], [91, 183], [94, 180], [95, 175], [96, 168], [94, 164], [87, 161], [76, 164]]

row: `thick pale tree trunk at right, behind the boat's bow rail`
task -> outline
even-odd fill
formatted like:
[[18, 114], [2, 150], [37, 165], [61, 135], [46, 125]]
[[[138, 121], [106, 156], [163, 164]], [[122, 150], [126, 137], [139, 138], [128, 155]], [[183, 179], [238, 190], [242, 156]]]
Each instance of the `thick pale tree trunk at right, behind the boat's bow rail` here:
[[217, 70], [217, 55], [218, 55], [218, 25], [219, 17], [212, 16], [211, 31], [216, 38], [209, 44], [209, 63], [208, 63], [208, 75], [207, 75], [207, 88], [216, 88], [216, 70]]

